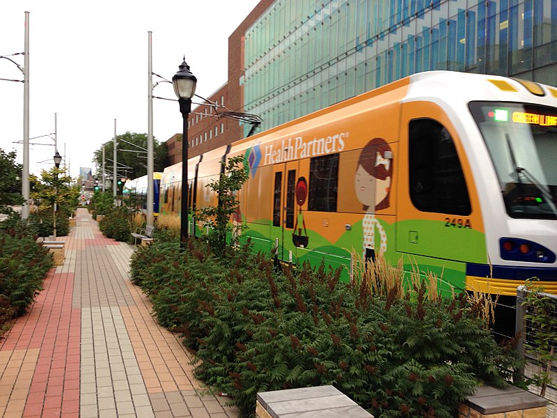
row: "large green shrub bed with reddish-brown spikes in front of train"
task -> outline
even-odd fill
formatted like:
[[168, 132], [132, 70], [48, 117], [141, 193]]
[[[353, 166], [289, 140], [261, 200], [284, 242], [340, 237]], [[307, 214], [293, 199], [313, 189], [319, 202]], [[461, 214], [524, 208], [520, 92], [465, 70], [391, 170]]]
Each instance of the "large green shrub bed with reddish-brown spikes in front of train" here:
[[323, 265], [279, 274], [265, 256], [231, 251], [223, 262], [196, 240], [184, 253], [155, 242], [134, 256], [132, 279], [196, 350], [196, 377], [244, 417], [258, 392], [317, 385], [378, 417], [454, 417], [480, 382], [503, 386], [520, 364], [465, 295], [372, 295]]

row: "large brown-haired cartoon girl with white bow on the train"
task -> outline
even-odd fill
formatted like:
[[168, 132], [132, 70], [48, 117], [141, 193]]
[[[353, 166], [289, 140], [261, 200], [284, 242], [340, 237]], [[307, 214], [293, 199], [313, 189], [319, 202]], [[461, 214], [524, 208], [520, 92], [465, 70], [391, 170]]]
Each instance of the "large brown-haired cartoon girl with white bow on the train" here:
[[389, 208], [389, 192], [393, 173], [393, 153], [382, 138], [374, 138], [363, 147], [356, 169], [356, 196], [363, 204], [363, 256], [375, 261], [376, 242], [379, 254], [387, 249], [387, 236], [383, 226], [375, 218], [375, 211]]

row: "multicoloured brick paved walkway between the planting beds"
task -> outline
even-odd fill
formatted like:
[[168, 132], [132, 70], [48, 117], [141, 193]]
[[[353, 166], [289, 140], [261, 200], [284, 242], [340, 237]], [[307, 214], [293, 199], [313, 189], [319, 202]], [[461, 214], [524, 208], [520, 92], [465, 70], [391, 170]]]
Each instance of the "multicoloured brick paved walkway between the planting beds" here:
[[133, 247], [84, 208], [29, 313], [0, 339], [0, 418], [236, 418], [203, 395], [180, 339], [128, 277]]

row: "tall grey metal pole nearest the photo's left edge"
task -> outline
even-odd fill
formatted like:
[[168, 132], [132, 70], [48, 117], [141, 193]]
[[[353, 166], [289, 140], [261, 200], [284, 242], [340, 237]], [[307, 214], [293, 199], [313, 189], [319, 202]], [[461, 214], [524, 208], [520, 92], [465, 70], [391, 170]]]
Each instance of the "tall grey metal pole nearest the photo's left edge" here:
[[25, 12], [25, 49], [23, 68], [23, 173], [22, 219], [29, 217], [29, 12]]

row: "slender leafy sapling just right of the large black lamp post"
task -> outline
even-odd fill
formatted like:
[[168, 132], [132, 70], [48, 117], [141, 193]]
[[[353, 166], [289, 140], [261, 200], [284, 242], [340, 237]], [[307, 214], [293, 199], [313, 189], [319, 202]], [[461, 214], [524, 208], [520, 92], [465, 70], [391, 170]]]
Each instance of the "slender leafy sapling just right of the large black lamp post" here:
[[[224, 172], [219, 180], [214, 180], [206, 187], [212, 189], [219, 196], [218, 206], [207, 206], [199, 211], [199, 219], [205, 226], [210, 227], [208, 235], [209, 243], [217, 254], [226, 254], [226, 234], [232, 232], [230, 244], [237, 244], [237, 238], [233, 227], [229, 224], [230, 216], [237, 212], [238, 203], [237, 192], [242, 189], [248, 179], [248, 171], [244, 167], [244, 157], [239, 155], [232, 157], [225, 164]], [[243, 226], [235, 226], [242, 229]]]

